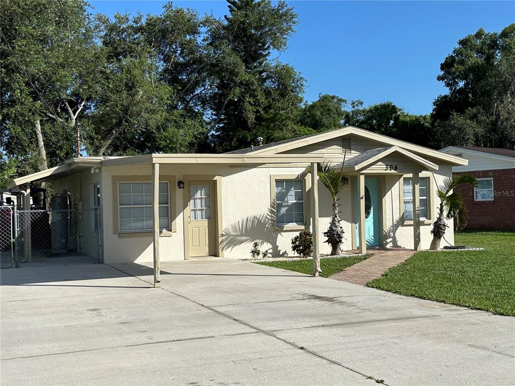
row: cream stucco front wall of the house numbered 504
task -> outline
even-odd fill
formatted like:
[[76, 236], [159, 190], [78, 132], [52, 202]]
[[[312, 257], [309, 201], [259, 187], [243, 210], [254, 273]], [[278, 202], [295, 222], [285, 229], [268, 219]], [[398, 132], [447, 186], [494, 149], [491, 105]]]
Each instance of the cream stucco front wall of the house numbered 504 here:
[[[113, 232], [113, 176], [141, 176], [142, 180], [150, 181], [150, 167], [104, 167], [102, 168], [102, 197], [104, 204], [104, 255], [106, 262], [122, 261], [152, 261], [152, 234], [138, 237], [121, 237]], [[220, 175], [222, 203], [222, 238], [221, 248], [224, 257], [241, 259], [250, 257], [250, 249], [254, 241], [258, 241], [262, 251], [268, 251], [273, 256], [294, 255], [291, 251], [291, 239], [299, 230], [285, 231], [275, 226], [271, 211], [271, 175], [301, 174], [303, 167], [228, 167], [228, 166], [161, 166], [162, 175], [174, 175], [176, 181], [188, 175]], [[437, 183], [451, 172], [450, 167], [442, 166], [435, 173]], [[386, 198], [384, 214], [388, 237], [388, 246], [413, 248], [413, 225], [404, 225], [401, 221], [399, 203], [399, 176], [386, 176]], [[182, 208], [185, 206], [183, 190], [175, 189], [176, 232], [171, 236], [160, 238], [160, 256], [162, 261], [184, 259], [184, 228]], [[435, 189], [436, 190], [436, 189]], [[319, 183], [319, 232], [322, 244], [320, 252], [327, 254], [330, 247], [323, 243], [322, 233], [327, 229], [331, 216], [331, 197], [325, 187]], [[305, 196], [305, 205], [310, 206], [310, 191]], [[352, 200], [351, 185], [345, 186], [340, 194], [340, 210], [342, 225], [345, 230], [343, 250], [352, 249]], [[438, 205], [437, 197], [433, 197], [432, 205]], [[436, 212], [436, 211], [435, 211]], [[305, 219], [311, 225], [309, 217]], [[431, 224], [421, 225], [421, 245], [429, 248], [431, 243]], [[453, 242], [453, 232], [450, 228], [445, 238]]]

